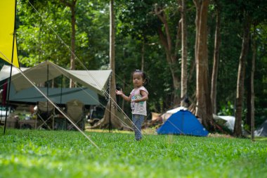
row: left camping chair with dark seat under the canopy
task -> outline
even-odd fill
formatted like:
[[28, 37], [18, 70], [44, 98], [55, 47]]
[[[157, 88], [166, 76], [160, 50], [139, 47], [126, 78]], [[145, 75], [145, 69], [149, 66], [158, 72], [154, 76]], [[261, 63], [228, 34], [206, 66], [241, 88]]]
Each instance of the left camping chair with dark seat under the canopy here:
[[48, 101], [39, 101], [37, 103], [37, 119], [35, 128], [53, 129], [55, 118], [55, 107]]

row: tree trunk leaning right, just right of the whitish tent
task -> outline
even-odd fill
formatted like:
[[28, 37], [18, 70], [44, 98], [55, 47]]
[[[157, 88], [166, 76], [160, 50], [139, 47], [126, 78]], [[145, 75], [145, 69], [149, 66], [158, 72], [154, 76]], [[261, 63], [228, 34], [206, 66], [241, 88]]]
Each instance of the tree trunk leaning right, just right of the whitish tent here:
[[237, 76], [237, 93], [236, 93], [236, 112], [235, 112], [235, 127], [234, 135], [242, 136], [242, 103], [244, 95], [244, 80], [245, 80], [245, 58], [249, 50], [249, 30], [250, 20], [246, 16], [244, 21], [244, 34], [242, 39], [242, 49], [239, 58], [238, 76]]

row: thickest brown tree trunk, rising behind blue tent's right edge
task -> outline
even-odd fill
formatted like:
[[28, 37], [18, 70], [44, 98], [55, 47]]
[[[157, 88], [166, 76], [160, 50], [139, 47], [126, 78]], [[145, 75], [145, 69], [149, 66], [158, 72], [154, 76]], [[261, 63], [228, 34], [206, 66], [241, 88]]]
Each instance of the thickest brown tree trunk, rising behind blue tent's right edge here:
[[197, 106], [196, 115], [202, 119], [202, 123], [208, 129], [212, 124], [211, 98], [208, 82], [208, 51], [207, 51], [207, 15], [209, 0], [203, 0], [200, 3], [194, 0], [197, 9], [200, 9], [197, 17]]

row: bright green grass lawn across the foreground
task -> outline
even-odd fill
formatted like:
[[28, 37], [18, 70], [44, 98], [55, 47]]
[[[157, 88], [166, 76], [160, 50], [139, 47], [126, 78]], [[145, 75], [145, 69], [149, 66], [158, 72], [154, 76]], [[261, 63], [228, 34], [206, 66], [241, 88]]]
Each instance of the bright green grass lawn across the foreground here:
[[267, 177], [267, 140], [0, 129], [0, 177]]

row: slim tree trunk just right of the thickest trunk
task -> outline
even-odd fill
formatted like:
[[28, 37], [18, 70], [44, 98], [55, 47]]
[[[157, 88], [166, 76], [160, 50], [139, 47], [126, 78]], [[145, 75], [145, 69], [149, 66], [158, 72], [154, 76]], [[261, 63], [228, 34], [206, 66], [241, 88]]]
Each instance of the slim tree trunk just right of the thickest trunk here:
[[213, 68], [212, 68], [212, 77], [211, 77], [211, 103], [213, 106], [213, 113], [217, 113], [217, 104], [216, 104], [216, 95], [217, 95], [217, 76], [219, 68], [219, 49], [221, 43], [221, 14], [219, 8], [219, 2], [215, 1], [216, 8], [216, 30], [215, 30], [215, 39], [214, 39], [214, 57], [213, 57]]

